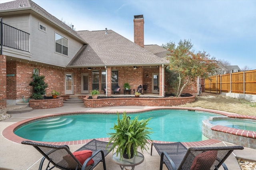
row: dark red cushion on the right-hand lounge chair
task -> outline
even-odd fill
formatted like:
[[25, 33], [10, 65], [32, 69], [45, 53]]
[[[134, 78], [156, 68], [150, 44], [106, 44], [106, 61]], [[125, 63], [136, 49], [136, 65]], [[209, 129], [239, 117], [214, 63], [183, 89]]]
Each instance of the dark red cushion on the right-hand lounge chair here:
[[208, 150], [198, 154], [193, 162], [190, 170], [209, 170], [217, 158], [217, 150]]

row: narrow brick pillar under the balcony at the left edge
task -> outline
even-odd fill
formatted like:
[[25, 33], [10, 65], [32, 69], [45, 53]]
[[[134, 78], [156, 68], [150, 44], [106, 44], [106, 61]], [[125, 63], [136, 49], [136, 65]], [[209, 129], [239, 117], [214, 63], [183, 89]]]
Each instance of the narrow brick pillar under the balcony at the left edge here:
[[0, 109], [6, 109], [6, 56], [0, 55]]

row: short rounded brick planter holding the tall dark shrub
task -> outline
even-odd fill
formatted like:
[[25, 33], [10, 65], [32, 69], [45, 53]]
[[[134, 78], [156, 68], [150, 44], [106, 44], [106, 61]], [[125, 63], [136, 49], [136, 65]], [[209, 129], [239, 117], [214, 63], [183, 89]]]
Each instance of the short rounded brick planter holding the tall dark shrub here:
[[63, 98], [44, 99], [44, 100], [29, 100], [29, 107], [33, 109], [51, 109], [63, 106]]

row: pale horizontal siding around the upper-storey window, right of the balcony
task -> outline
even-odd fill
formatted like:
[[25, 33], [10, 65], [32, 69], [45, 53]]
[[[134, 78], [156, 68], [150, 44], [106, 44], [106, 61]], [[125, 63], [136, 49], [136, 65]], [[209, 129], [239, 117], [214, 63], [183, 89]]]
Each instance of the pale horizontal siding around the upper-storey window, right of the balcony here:
[[[46, 33], [38, 29], [38, 23], [46, 26]], [[68, 56], [55, 53], [55, 32], [68, 39]], [[72, 37], [65, 35], [64, 32], [34, 16], [31, 16], [30, 40], [32, 61], [63, 67], [72, 60], [83, 45]]]

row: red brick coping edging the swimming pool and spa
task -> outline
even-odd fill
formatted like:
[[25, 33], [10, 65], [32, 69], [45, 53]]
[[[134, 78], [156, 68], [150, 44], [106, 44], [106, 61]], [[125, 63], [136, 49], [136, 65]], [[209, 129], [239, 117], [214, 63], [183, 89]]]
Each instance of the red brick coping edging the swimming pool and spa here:
[[[236, 117], [236, 118], [246, 118], [246, 119], [256, 119], [256, 116], [246, 116], [246, 115], [238, 115], [235, 113], [230, 113], [226, 111], [218, 111], [218, 110], [212, 110], [212, 109], [203, 109], [203, 108], [196, 108], [196, 107], [162, 107], [162, 108], [151, 108], [151, 109], [143, 109], [139, 111], [127, 111], [126, 113], [143, 113], [146, 111], [152, 111], [152, 110], [162, 110], [162, 109], [185, 109], [185, 110], [190, 110], [190, 111], [206, 111], [210, 113], [217, 113], [220, 115], [224, 115], [227, 117]], [[4, 129], [2, 131], [2, 135], [4, 138], [15, 142], [15, 143], [21, 143], [22, 141], [27, 141], [28, 139], [24, 139], [22, 137], [19, 137], [14, 134], [14, 131], [18, 129], [19, 127], [26, 125], [30, 123], [31, 121], [38, 121], [41, 119], [46, 119], [46, 118], [52, 118], [52, 117], [57, 117], [60, 115], [74, 115], [74, 114], [81, 114], [81, 113], [99, 113], [99, 114], [116, 114], [116, 111], [107, 111], [107, 112], [101, 112], [101, 111], [78, 111], [78, 112], [66, 112], [66, 113], [57, 113], [57, 114], [52, 114], [52, 115], [44, 115], [40, 117], [34, 117], [30, 119], [26, 119], [23, 121], [16, 122]], [[218, 125], [214, 126], [217, 127]], [[214, 128], [213, 127], [213, 128]], [[229, 127], [222, 127], [226, 129], [227, 131], [230, 130]], [[218, 128], [217, 128], [218, 129]], [[234, 128], [233, 128], [234, 129]], [[240, 129], [236, 129], [237, 131], [243, 131]], [[253, 135], [251, 135], [253, 133]], [[244, 131], [244, 133], [237, 133], [236, 135], [244, 136], [244, 137], [253, 137], [254, 139], [256, 138], [256, 132], [253, 131]], [[41, 141], [34, 141], [38, 143], [46, 143], [46, 144], [52, 144], [52, 145], [79, 145], [79, 144], [85, 144], [91, 141], [92, 139], [84, 139], [84, 140], [78, 140], [78, 141], [64, 141], [64, 142], [41, 142]], [[97, 140], [100, 141], [108, 141], [108, 138], [98, 138]], [[32, 140], [30, 140], [32, 141]], [[173, 143], [172, 141], [152, 141], [154, 143]], [[205, 145], [213, 145], [216, 143], [220, 143], [221, 141], [218, 141], [216, 139], [208, 139], [204, 141], [195, 141], [195, 142], [182, 142], [186, 147], [196, 147], [196, 146], [205, 146]]]

